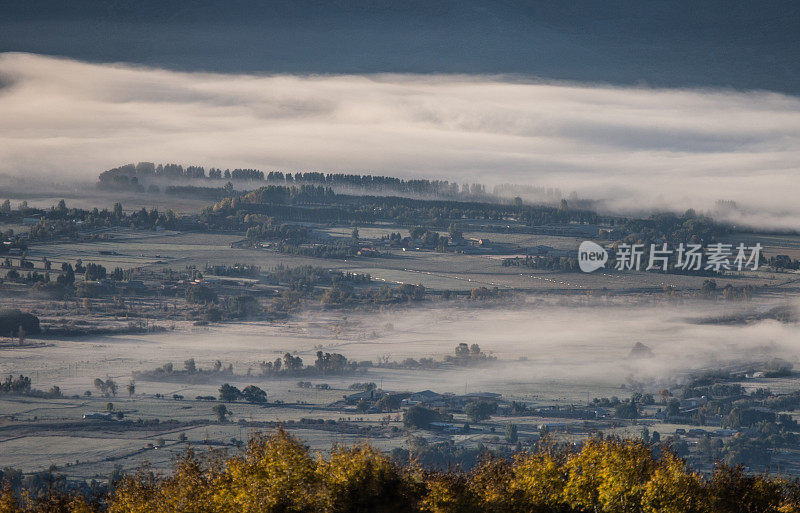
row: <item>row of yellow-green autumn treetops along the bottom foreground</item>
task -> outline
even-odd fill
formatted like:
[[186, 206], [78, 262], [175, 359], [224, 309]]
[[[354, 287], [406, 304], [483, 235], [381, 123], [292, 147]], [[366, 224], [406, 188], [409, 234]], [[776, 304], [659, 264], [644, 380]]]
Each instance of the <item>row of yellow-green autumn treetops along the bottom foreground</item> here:
[[368, 446], [328, 457], [279, 429], [235, 456], [193, 449], [159, 478], [142, 470], [110, 497], [41, 500], [0, 495], [0, 513], [800, 513], [795, 481], [720, 466], [704, 477], [638, 441], [587, 441], [580, 450], [544, 444], [512, 460], [487, 457], [470, 472], [398, 465]]

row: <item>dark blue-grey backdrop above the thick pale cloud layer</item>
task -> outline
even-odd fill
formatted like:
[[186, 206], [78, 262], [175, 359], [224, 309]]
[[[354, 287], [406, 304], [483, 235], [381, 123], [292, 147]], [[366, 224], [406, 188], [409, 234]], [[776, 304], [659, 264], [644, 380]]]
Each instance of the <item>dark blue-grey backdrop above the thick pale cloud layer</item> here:
[[800, 4], [0, 0], [0, 50], [257, 73], [502, 73], [800, 94]]

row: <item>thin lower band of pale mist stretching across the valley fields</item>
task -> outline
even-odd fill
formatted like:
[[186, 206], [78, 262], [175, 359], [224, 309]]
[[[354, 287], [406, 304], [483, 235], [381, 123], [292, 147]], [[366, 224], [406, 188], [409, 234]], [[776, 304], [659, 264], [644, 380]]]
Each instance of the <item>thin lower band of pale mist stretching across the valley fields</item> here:
[[[42, 383], [49, 385], [52, 380], [68, 393], [82, 392], [85, 380], [65, 382], [65, 369], [59, 367], [75, 361], [81, 361], [84, 372], [90, 375], [105, 372], [124, 380], [131, 370], [157, 368], [167, 362], [180, 365], [188, 357], [204, 368], [222, 359], [232, 363], [242, 376], [239, 379], [246, 381], [248, 368], [257, 369], [259, 362], [279, 358], [286, 351], [308, 363], [313, 362], [318, 350], [341, 353], [353, 361], [376, 362], [384, 357], [396, 362], [407, 358], [440, 361], [463, 342], [479, 344], [498, 359], [497, 363], [420, 369], [412, 374], [376, 368], [364, 378], [329, 376], [327, 380], [339, 386], [358, 379], [380, 380], [386, 389], [398, 391], [431, 388], [459, 393], [466, 387], [468, 391], [542, 397], [564, 393], [565, 386], [619, 388], [631, 379], [649, 385], [680, 384], [681, 376], [702, 370], [745, 370], [775, 358], [796, 364], [800, 335], [794, 324], [775, 320], [746, 325], [698, 322], [764, 310], [774, 304], [732, 306], [692, 301], [648, 305], [621, 301], [592, 305], [570, 301], [513, 308], [430, 307], [380, 314], [316, 312], [278, 325], [242, 323], [146, 338], [55, 341], [46, 352], [51, 361], [61, 363], [50, 365], [49, 377], [43, 373]], [[636, 343], [646, 345], [652, 355], [632, 357]], [[34, 371], [26, 367], [36, 364], [29, 351], [6, 350], [6, 356], [0, 372]]]

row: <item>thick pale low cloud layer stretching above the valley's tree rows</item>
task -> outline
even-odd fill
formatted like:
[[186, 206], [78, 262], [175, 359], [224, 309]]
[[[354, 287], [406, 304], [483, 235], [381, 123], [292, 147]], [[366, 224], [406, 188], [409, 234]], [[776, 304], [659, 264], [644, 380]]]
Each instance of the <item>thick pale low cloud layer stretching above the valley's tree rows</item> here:
[[[800, 229], [800, 99], [474, 76], [179, 73], [0, 54], [0, 173], [141, 160], [558, 187]], [[795, 219], [792, 219], [792, 218]]]

